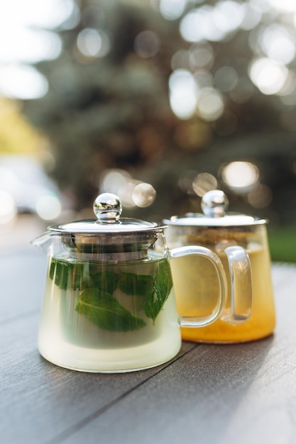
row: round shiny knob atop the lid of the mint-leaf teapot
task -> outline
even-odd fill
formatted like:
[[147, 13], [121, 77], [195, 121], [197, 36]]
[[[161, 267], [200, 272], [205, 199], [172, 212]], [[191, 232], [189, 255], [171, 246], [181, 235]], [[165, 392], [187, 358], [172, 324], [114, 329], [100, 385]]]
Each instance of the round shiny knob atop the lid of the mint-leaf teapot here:
[[93, 209], [98, 222], [116, 223], [121, 216], [122, 206], [116, 194], [103, 193], [95, 199]]

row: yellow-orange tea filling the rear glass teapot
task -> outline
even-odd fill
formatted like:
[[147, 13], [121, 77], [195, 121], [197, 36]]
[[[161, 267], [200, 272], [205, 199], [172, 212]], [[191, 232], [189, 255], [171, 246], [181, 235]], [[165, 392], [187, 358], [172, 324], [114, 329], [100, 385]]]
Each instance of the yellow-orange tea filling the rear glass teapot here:
[[[230, 274], [226, 255], [220, 258], [228, 282], [228, 295], [224, 314], [217, 321], [202, 328], [182, 328], [182, 338], [196, 342], [233, 343], [256, 340], [273, 332], [275, 306], [270, 276], [268, 248], [258, 245], [247, 250], [252, 272], [253, 301], [251, 316], [244, 323], [231, 325], [226, 322], [230, 309]], [[190, 256], [172, 259], [170, 262], [181, 316], [204, 316], [213, 310], [213, 301], [219, 292], [214, 267], [205, 257]], [[236, 286], [239, 292], [239, 285]]]

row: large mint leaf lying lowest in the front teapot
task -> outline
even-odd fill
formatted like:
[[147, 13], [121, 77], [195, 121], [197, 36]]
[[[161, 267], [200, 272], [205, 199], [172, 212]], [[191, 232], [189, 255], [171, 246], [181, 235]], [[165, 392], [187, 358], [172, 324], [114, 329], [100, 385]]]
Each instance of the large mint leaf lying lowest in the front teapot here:
[[108, 331], [133, 331], [146, 326], [146, 322], [134, 316], [110, 294], [99, 289], [85, 289], [77, 299], [75, 310], [89, 322]]

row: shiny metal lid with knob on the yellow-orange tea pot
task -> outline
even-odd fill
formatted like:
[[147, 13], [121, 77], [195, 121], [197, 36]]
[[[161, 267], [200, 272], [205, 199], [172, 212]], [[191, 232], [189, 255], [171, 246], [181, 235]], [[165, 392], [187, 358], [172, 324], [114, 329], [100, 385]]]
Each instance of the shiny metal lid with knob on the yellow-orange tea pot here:
[[265, 219], [247, 216], [241, 213], [226, 213], [229, 200], [219, 189], [213, 189], [202, 197], [202, 213], [186, 213], [184, 216], [172, 216], [163, 222], [168, 226], [212, 226], [235, 227], [252, 226], [266, 223]]

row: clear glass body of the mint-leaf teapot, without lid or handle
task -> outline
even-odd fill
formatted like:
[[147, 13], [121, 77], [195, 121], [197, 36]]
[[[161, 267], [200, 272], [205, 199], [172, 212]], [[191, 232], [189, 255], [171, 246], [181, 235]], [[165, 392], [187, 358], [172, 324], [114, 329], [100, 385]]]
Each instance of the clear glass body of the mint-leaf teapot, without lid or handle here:
[[165, 250], [151, 245], [145, 257], [132, 256], [107, 261], [53, 243], [38, 335], [45, 359], [73, 370], [129, 372], [177, 355], [179, 316]]

